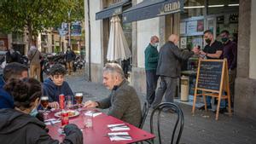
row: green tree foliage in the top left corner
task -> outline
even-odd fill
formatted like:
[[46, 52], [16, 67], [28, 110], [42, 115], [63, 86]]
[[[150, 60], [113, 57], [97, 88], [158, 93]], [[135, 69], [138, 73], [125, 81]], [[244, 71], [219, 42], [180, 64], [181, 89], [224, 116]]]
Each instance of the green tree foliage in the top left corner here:
[[0, 0], [0, 31], [37, 36], [44, 28], [61, 26], [70, 20], [84, 20], [84, 0]]

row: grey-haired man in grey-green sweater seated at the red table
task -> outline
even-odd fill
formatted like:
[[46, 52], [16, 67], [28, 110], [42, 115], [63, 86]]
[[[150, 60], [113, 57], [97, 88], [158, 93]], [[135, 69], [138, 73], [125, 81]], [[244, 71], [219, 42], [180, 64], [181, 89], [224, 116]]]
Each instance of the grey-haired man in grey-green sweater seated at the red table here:
[[112, 90], [108, 98], [87, 101], [84, 107], [109, 108], [108, 115], [138, 127], [142, 118], [140, 100], [135, 89], [125, 80], [125, 74], [118, 64], [111, 63], [104, 67], [103, 84]]

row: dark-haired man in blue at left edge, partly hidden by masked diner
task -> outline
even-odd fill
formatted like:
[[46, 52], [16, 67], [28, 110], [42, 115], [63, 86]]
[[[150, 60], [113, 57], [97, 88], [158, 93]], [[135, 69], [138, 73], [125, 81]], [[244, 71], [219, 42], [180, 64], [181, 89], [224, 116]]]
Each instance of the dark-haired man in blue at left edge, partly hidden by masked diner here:
[[18, 62], [9, 63], [3, 69], [3, 76], [0, 77], [0, 109], [14, 108], [14, 98], [3, 89], [3, 85], [11, 78], [27, 78], [28, 68]]

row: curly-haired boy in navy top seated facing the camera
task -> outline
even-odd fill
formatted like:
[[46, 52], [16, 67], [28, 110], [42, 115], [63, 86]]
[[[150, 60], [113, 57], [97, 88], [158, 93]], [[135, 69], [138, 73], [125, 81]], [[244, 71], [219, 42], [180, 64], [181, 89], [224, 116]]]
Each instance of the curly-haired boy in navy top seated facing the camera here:
[[59, 95], [72, 95], [73, 91], [65, 80], [67, 71], [61, 64], [55, 64], [49, 69], [49, 78], [44, 80], [43, 95], [49, 97], [49, 107], [59, 107]]

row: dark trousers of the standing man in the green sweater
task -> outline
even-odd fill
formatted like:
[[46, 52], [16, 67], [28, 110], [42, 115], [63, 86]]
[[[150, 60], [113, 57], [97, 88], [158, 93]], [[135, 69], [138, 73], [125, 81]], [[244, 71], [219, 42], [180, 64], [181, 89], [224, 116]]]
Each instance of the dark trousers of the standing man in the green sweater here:
[[157, 80], [158, 76], [156, 75], [156, 70], [146, 70], [147, 101], [149, 105], [151, 105], [154, 101]]

